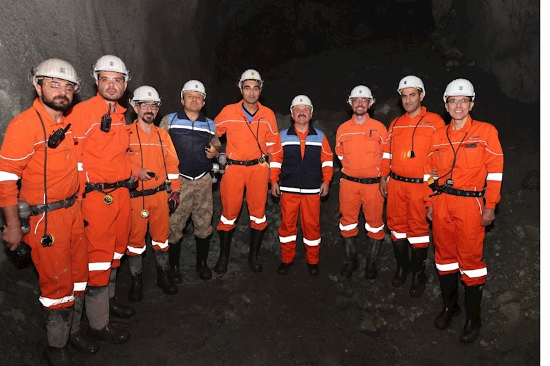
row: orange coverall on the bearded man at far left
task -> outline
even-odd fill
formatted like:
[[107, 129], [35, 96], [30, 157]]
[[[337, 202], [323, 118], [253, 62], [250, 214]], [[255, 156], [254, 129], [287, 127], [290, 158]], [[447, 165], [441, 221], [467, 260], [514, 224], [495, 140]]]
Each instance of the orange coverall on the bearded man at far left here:
[[[44, 203], [44, 130], [46, 139], [67, 119], [56, 122], [38, 98], [32, 108], [17, 115], [5, 131], [0, 149], [0, 207], [17, 205], [17, 181], [21, 179], [19, 198], [29, 205]], [[47, 203], [62, 201], [78, 191], [76, 152], [72, 127], [57, 148], [47, 148]], [[47, 233], [54, 236], [51, 247], [42, 247], [45, 214], [30, 217], [30, 233], [23, 237], [32, 248], [31, 257], [39, 273], [40, 302], [51, 310], [69, 308], [74, 296], [82, 296], [88, 281], [88, 253], [80, 203], [47, 213]]]

